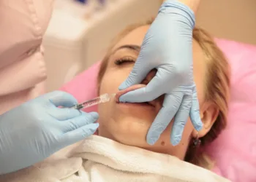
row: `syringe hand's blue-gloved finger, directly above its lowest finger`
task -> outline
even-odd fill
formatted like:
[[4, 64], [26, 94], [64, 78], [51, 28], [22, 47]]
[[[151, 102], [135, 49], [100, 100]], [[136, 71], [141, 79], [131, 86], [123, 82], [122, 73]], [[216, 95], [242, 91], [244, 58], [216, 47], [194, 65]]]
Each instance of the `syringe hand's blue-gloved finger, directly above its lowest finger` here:
[[83, 112], [83, 114], [81, 114], [78, 117], [61, 122], [62, 131], [70, 132], [72, 130], [76, 130], [85, 125], [96, 122], [98, 118], [99, 118], [99, 114], [97, 114], [97, 112], [91, 112], [91, 113]]

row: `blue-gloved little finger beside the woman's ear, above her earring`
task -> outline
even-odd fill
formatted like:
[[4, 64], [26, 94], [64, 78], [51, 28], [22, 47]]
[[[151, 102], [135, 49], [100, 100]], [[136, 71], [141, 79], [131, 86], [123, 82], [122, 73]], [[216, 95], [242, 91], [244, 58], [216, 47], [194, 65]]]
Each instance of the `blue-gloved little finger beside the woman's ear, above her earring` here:
[[189, 112], [189, 116], [193, 126], [195, 127], [195, 130], [202, 130], [203, 122], [200, 119], [200, 108], [196, 88], [193, 90], [192, 106]]

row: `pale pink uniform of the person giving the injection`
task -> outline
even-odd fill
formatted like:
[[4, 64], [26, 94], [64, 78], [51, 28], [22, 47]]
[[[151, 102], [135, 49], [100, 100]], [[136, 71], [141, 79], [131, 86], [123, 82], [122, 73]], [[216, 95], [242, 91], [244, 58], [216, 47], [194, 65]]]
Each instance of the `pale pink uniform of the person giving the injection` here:
[[0, 114], [44, 92], [42, 36], [53, 0], [0, 1]]

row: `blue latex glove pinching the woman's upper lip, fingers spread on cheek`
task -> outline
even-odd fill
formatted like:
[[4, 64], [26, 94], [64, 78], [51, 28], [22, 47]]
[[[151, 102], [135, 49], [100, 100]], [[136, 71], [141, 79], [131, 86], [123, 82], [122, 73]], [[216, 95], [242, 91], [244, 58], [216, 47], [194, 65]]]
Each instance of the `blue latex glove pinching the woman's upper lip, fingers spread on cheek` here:
[[190, 119], [196, 130], [202, 128], [199, 103], [193, 78], [192, 30], [195, 15], [178, 1], [165, 1], [159, 9], [140, 50], [132, 72], [119, 90], [140, 84], [149, 71], [157, 68], [154, 79], [144, 88], [127, 92], [120, 102], [141, 103], [165, 94], [159, 114], [148, 130], [146, 141], [154, 144], [175, 116], [171, 143], [181, 141], [184, 126]]

